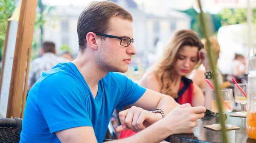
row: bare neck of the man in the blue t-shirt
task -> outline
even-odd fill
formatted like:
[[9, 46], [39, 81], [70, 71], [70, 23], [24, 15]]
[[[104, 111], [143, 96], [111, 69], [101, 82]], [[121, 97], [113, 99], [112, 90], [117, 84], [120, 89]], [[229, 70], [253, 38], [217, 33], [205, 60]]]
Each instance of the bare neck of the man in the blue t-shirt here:
[[80, 67], [79, 70], [81, 70], [80, 72], [90, 89], [98, 86], [99, 80], [108, 74], [108, 72], [103, 72], [92, 59], [84, 57], [84, 55], [81, 54], [77, 56], [73, 63], [78, 69]]

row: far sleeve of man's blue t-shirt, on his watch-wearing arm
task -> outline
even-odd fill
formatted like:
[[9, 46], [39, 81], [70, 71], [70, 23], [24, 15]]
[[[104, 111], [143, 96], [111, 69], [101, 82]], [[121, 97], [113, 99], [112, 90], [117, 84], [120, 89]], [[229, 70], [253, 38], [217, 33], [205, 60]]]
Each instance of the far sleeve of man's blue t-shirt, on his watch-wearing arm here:
[[140, 99], [146, 89], [134, 83], [124, 75], [117, 74], [116, 76], [119, 88], [122, 91], [116, 108], [121, 110], [123, 107], [134, 104], [138, 99]]

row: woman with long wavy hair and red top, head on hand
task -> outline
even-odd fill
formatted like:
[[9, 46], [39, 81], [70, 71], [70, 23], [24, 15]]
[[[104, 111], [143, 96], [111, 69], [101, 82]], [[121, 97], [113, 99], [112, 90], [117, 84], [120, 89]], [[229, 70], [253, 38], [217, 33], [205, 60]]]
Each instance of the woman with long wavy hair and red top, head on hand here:
[[[201, 64], [200, 57], [204, 64], [208, 64], [204, 58], [207, 53], [203, 48], [195, 31], [177, 31], [167, 43], [160, 61], [143, 75], [141, 86], [169, 95], [178, 104], [189, 103], [192, 107], [204, 106], [211, 109], [211, 91], [204, 97], [201, 89], [186, 78], [196, 65]], [[119, 138], [134, 134], [135, 132], [128, 130], [121, 132]]]

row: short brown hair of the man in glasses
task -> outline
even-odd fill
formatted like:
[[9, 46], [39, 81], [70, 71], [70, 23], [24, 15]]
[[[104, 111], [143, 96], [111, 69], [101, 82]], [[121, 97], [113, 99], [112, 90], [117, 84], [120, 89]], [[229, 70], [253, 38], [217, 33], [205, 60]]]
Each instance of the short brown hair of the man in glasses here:
[[131, 14], [124, 8], [111, 1], [91, 2], [79, 16], [77, 22], [77, 34], [79, 39], [79, 51], [84, 52], [86, 36], [89, 32], [105, 34], [111, 17], [121, 17], [133, 21]]

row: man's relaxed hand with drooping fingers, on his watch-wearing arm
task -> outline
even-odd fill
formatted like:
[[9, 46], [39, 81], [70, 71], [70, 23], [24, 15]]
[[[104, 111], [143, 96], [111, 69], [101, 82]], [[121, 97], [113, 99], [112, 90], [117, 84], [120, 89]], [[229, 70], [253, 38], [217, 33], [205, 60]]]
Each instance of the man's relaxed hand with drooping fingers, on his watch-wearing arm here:
[[122, 132], [128, 129], [139, 132], [160, 120], [159, 117], [157, 114], [133, 106], [130, 109], [119, 112], [121, 125], [116, 128], [116, 132]]

